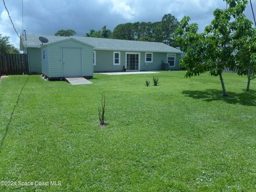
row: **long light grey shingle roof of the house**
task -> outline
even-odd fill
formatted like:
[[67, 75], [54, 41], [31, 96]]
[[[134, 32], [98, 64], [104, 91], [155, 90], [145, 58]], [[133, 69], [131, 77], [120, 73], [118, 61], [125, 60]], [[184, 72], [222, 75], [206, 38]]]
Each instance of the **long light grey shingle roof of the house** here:
[[[39, 47], [41, 42], [38, 37], [43, 36], [49, 40], [49, 43], [61, 41], [67, 38], [74, 38], [78, 41], [90, 44], [94, 46], [94, 50], [113, 50], [113, 51], [147, 51], [147, 52], [171, 52], [181, 53], [180, 50], [175, 49], [164, 43], [156, 42], [141, 42], [141, 41], [130, 41], [120, 39], [108, 39], [108, 38], [95, 38], [95, 37], [83, 37], [83, 36], [50, 36], [50, 35], [33, 35], [27, 34], [27, 41], [23, 37], [22, 43], [25, 47]], [[47, 44], [47, 43], [46, 43]]]

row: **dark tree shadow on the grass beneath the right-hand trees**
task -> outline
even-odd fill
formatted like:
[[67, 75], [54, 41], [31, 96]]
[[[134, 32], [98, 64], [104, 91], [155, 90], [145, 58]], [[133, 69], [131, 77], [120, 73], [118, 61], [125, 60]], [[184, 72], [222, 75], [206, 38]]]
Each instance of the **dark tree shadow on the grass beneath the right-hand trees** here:
[[228, 97], [222, 96], [222, 91], [215, 89], [207, 89], [205, 91], [183, 91], [186, 97], [193, 99], [201, 99], [203, 101], [225, 101], [230, 104], [239, 103], [243, 106], [256, 106], [256, 91], [243, 91], [242, 93], [228, 92]]

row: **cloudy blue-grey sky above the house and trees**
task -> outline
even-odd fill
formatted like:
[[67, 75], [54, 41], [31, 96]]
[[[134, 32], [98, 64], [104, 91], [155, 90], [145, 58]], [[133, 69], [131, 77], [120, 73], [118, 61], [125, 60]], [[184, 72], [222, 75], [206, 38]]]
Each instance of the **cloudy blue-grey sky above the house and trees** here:
[[[5, 0], [14, 26], [22, 33], [22, 0]], [[256, 14], [256, 0], [252, 0]], [[54, 35], [60, 29], [73, 29], [83, 36], [90, 29], [103, 26], [113, 30], [126, 22], [161, 21], [164, 14], [172, 14], [179, 21], [184, 15], [199, 25], [199, 32], [209, 25], [215, 9], [225, 9], [223, 0], [23, 0], [23, 29], [27, 34]], [[253, 21], [250, 4], [245, 10]], [[3, 2], [0, 2], [0, 34], [10, 37], [19, 47]]]

